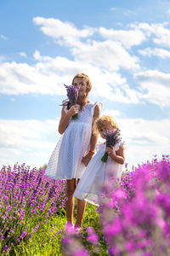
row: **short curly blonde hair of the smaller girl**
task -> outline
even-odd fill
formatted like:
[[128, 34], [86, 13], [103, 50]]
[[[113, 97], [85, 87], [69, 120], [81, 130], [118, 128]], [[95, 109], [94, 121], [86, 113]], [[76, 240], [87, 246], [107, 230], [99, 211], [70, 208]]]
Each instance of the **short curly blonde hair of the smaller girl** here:
[[116, 120], [112, 118], [111, 115], [102, 115], [99, 119], [94, 121], [94, 134], [99, 134], [99, 130], [105, 125], [111, 125], [114, 129], [118, 129]]

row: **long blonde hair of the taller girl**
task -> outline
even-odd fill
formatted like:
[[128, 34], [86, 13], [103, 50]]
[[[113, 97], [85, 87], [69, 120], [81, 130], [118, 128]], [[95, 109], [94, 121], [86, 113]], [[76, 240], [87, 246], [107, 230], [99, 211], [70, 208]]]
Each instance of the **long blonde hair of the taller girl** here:
[[[85, 79], [86, 83], [87, 83], [86, 95], [82, 99], [82, 103], [80, 105], [80, 108], [82, 110], [82, 108], [88, 102], [88, 94], [89, 94], [90, 90], [92, 89], [92, 83], [91, 83], [90, 79], [88, 78], [88, 75], [85, 73], [77, 73], [76, 76], [74, 77], [74, 79]], [[72, 84], [74, 84], [74, 79], [72, 79]]]

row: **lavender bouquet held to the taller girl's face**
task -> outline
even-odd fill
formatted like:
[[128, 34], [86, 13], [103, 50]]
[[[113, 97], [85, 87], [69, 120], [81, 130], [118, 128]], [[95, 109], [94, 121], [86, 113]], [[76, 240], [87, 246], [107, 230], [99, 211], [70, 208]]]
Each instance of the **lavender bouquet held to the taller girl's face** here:
[[[64, 84], [65, 85], [65, 84]], [[78, 98], [78, 88], [75, 85], [65, 85], [67, 96], [69, 99], [69, 102], [71, 103], [71, 106], [77, 104], [77, 98]], [[72, 119], [77, 119], [78, 114], [72, 116]]]

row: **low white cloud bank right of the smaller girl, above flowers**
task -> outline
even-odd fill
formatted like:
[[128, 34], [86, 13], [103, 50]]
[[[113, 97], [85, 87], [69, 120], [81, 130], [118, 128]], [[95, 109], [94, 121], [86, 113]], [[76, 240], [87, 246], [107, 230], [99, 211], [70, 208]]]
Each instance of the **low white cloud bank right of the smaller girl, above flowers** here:
[[127, 162], [138, 165], [156, 154], [169, 154], [170, 120], [121, 119], [116, 121], [126, 142]]

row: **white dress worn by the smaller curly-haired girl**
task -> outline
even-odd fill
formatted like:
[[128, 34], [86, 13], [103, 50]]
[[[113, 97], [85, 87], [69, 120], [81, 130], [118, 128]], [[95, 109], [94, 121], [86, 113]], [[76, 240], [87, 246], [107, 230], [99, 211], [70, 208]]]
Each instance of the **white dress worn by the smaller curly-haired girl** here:
[[[116, 153], [119, 147], [120, 145], [116, 144], [113, 152]], [[122, 165], [116, 163], [110, 156], [108, 156], [106, 163], [101, 160], [105, 154], [104, 143], [96, 145], [96, 149], [97, 153], [90, 160], [81, 180], [77, 184], [74, 196], [78, 199], [88, 201], [95, 206], [99, 206], [99, 199], [105, 181], [111, 177], [121, 178]]]

